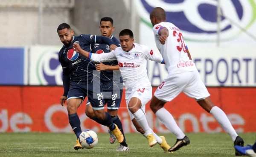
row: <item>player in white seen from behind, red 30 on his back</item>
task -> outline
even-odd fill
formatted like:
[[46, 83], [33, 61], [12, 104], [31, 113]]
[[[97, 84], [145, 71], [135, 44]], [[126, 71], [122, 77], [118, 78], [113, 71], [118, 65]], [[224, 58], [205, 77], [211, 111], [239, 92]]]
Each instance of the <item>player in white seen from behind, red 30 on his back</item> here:
[[[243, 146], [243, 139], [237, 135], [227, 115], [209, 98], [207, 88], [201, 81], [195, 63], [192, 62], [189, 50], [184, 42], [180, 29], [171, 22], [166, 22], [166, 14], [163, 8], [156, 7], [150, 13], [153, 25], [154, 37], [157, 48], [166, 64], [168, 76], [157, 87], [150, 108], [157, 118], [176, 135], [177, 140], [169, 151], [176, 151], [190, 143], [189, 138], [177, 126], [171, 113], [165, 108], [167, 101], [172, 101], [180, 92], [191, 98], [195, 98], [198, 104], [212, 114], [221, 127], [232, 137], [234, 145]], [[240, 155], [238, 151], [236, 155]]]

